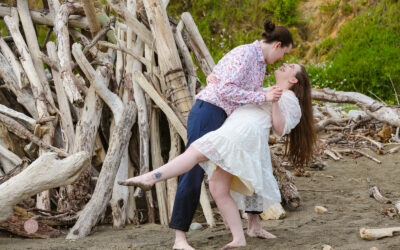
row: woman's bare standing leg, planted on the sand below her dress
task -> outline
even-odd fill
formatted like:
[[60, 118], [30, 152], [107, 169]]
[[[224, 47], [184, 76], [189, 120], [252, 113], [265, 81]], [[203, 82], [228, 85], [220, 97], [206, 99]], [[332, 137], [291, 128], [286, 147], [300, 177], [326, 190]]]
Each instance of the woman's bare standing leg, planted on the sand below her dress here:
[[232, 242], [225, 245], [222, 249], [246, 246], [246, 238], [244, 237], [239, 210], [230, 195], [231, 182], [232, 175], [221, 168], [217, 168], [213, 172], [209, 182], [211, 195], [214, 197], [218, 209], [233, 236]]

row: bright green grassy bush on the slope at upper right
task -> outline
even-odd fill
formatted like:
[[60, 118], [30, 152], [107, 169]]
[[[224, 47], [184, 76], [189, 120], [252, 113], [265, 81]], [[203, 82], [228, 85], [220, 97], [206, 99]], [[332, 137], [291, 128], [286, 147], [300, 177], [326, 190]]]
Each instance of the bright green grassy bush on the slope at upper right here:
[[400, 86], [400, 3], [382, 1], [316, 48], [329, 63], [308, 66], [316, 87], [358, 91], [389, 103]]

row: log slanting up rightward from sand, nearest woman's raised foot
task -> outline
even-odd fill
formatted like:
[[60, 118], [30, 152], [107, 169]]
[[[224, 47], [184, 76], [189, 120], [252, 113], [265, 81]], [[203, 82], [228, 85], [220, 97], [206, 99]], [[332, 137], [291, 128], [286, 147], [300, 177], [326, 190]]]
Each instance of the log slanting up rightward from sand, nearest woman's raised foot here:
[[111, 199], [113, 183], [131, 135], [131, 127], [136, 119], [136, 107], [129, 102], [122, 112], [122, 119], [112, 133], [106, 159], [104, 160], [92, 198], [81, 211], [76, 224], [71, 228], [67, 239], [77, 239], [88, 235], [105, 211]]

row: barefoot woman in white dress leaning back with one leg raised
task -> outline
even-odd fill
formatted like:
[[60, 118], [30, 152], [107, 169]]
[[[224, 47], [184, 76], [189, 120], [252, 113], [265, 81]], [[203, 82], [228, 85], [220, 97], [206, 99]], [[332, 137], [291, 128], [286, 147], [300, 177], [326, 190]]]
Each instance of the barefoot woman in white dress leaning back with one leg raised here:
[[315, 141], [311, 86], [305, 68], [284, 64], [274, 74], [276, 85], [266, 91], [282, 89], [278, 102], [247, 104], [236, 109], [219, 129], [193, 142], [174, 160], [120, 184], [149, 190], [155, 183], [200, 164], [208, 174], [210, 192], [233, 235], [233, 241], [224, 249], [245, 246], [238, 208], [243, 209], [247, 203], [254, 211], [263, 211], [281, 201], [268, 147], [271, 129], [278, 137], [292, 131], [287, 154], [294, 165], [308, 163]]

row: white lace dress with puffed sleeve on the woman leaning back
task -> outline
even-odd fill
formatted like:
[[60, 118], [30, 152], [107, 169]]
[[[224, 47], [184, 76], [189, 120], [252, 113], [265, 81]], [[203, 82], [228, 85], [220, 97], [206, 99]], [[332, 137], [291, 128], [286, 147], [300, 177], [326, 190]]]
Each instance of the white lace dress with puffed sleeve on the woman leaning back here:
[[[291, 91], [284, 91], [278, 103], [287, 134], [300, 121], [300, 105]], [[209, 159], [200, 163], [208, 179], [217, 167], [234, 176], [231, 194], [242, 210], [263, 211], [281, 201], [268, 146], [271, 110], [271, 103], [246, 104], [236, 109], [219, 129], [192, 143]]]

